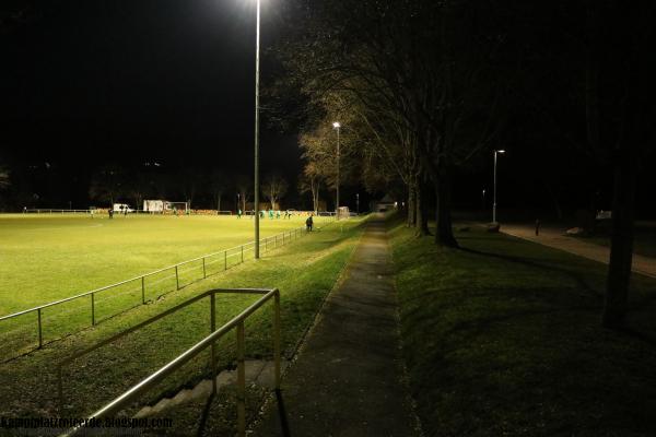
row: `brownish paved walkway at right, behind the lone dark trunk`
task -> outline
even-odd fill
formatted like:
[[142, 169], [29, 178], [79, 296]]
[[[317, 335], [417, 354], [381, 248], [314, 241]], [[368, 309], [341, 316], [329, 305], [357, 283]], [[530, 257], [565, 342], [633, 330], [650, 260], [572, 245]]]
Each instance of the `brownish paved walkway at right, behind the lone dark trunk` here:
[[[535, 225], [502, 224], [501, 232], [514, 237], [539, 243], [540, 245], [561, 249], [579, 257], [608, 264], [610, 248], [594, 243], [582, 241], [578, 238], [567, 237], [565, 229], [558, 227], [540, 227], [540, 235], [536, 236]], [[633, 272], [656, 277], [656, 259], [633, 255]]]

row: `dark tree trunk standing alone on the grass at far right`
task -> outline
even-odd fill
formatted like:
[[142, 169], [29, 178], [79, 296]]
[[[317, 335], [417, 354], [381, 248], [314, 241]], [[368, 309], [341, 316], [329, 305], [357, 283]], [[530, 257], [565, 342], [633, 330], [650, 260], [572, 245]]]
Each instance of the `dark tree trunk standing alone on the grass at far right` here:
[[635, 165], [633, 144], [625, 144], [623, 149], [620, 151], [622, 156], [616, 160], [614, 170], [610, 262], [602, 320], [607, 328], [620, 328], [624, 324], [633, 261], [633, 218], [637, 166]]

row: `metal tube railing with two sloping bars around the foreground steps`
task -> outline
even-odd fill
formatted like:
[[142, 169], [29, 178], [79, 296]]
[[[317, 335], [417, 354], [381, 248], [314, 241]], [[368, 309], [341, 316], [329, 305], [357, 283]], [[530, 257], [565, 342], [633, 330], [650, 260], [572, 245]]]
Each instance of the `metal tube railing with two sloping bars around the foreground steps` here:
[[[215, 326], [215, 295], [216, 293], [238, 293], [238, 294], [261, 294], [262, 297], [257, 299], [246, 309], [244, 309], [239, 315], [235, 316], [233, 319], [227, 321], [221, 328], [216, 329]], [[163, 312], [153, 320], [148, 321], [153, 322], [156, 319], [160, 319], [168, 314], [175, 312], [176, 310], [190, 305], [203, 297], [210, 296], [210, 320], [211, 320], [211, 333], [202, 339], [200, 342], [196, 343], [194, 346], [185, 351], [183, 354], [178, 355], [173, 361], [168, 362], [166, 365], [161, 367], [157, 371], [153, 373], [141, 382], [132, 386], [126, 392], [107, 403], [105, 406], [101, 408], [98, 411], [93, 413], [87, 422], [91, 422], [93, 418], [97, 420], [101, 417], [106, 417], [113, 414], [118, 413], [125, 408], [129, 406], [131, 403], [137, 401], [144, 392], [155, 387], [159, 382], [161, 382], [164, 378], [183, 367], [186, 363], [191, 361], [199, 353], [204, 351], [207, 347], [211, 346], [211, 376], [212, 376], [212, 393], [216, 393], [216, 341], [221, 339], [223, 335], [227, 334], [231, 330], [236, 330], [236, 340], [237, 340], [237, 350], [236, 350], [236, 361], [237, 361], [237, 429], [239, 436], [246, 435], [246, 365], [244, 357], [244, 322], [253, 312], [255, 312], [258, 308], [265, 305], [270, 299], [273, 299], [273, 362], [274, 362], [274, 389], [280, 390], [280, 355], [281, 355], [281, 342], [280, 342], [280, 292], [278, 288], [218, 288], [210, 290], [195, 298], [187, 300], [184, 304], [178, 305], [175, 308], [171, 308], [168, 311]], [[118, 336], [122, 336], [129, 332], [133, 332], [134, 330], [141, 328], [143, 324], [131, 328], [128, 331], [124, 331], [121, 334], [115, 335], [112, 339], [107, 339], [104, 342], [101, 342], [81, 353], [68, 358], [61, 365], [67, 365], [72, 359], [75, 359], [79, 356], [82, 356], [97, 347], [101, 347], [104, 344], [107, 344], [110, 341], [116, 340]], [[59, 390], [61, 391], [61, 366], [59, 368]], [[72, 436], [75, 433], [80, 432], [83, 426], [79, 426], [72, 430], [70, 430], [66, 436]]]

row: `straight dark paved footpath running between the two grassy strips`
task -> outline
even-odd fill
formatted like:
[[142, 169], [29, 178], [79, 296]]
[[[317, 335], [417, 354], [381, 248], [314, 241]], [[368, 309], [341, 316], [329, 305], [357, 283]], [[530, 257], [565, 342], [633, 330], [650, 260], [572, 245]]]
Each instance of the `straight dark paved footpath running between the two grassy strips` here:
[[[418, 436], [399, 345], [385, 224], [373, 218], [283, 378], [289, 435]], [[284, 436], [279, 412], [273, 401], [255, 435]]]

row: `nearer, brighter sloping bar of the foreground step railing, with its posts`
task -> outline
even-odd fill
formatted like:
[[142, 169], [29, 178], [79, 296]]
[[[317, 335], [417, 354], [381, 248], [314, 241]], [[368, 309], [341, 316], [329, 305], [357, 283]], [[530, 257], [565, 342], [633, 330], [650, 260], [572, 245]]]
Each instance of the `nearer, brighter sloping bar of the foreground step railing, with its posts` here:
[[[241, 314], [232, 318], [230, 321], [224, 323], [221, 328], [214, 330], [214, 295], [216, 293], [244, 293], [244, 294], [263, 294], [262, 297], [257, 299], [255, 303], [249, 305], [246, 309], [244, 309]], [[113, 401], [97, 410], [91, 416], [89, 416], [87, 423], [93, 418], [98, 418], [103, 416], [107, 416], [109, 414], [114, 414], [132, 403], [140, 394], [145, 391], [152, 389], [164, 378], [179, 369], [190, 359], [192, 359], [200, 352], [204, 351], [208, 346], [214, 347], [214, 343], [230, 332], [233, 328], [237, 329], [237, 416], [238, 416], [238, 430], [239, 435], [245, 435], [245, 394], [246, 394], [246, 383], [245, 383], [245, 362], [244, 362], [244, 321], [248, 316], [255, 312], [258, 308], [260, 308], [265, 303], [267, 303], [271, 297], [273, 297], [273, 359], [274, 359], [274, 387], [276, 390], [280, 389], [280, 292], [278, 288], [219, 288], [219, 290], [210, 290], [209, 292], [203, 294], [203, 297], [210, 295], [212, 297], [212, 329], [213, 332], [196, 343], [194, 346], [168, 362], [166, 365], [161, 367], [155, 373], [151, 374], [145, 379], [141, 380], [137, 385], [132, 386], [130, 389], [125, 391], [119, 397], [115, 398]], [[212, 381], [213, 381], [213, 392], [216, 392], [216, 369], [214, 362], [214, 350], [212, 350]], [[77, 432], [79, 432], [83, 426], [78, 426], [73, 428], [70, 433], [66, 434], [66, 436], [72, 436]]]

